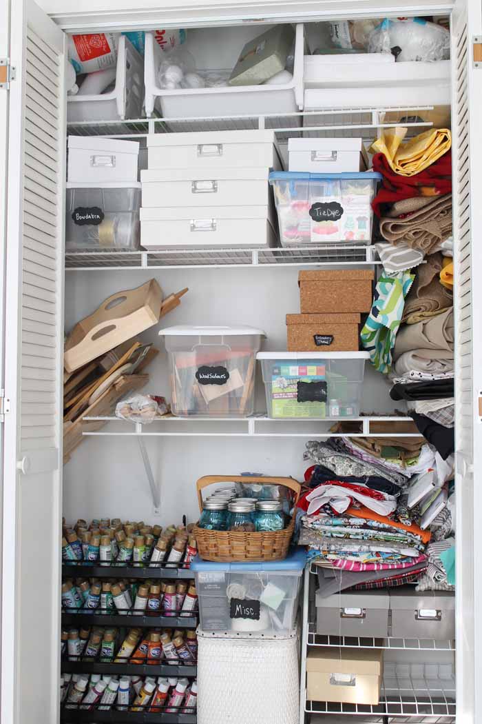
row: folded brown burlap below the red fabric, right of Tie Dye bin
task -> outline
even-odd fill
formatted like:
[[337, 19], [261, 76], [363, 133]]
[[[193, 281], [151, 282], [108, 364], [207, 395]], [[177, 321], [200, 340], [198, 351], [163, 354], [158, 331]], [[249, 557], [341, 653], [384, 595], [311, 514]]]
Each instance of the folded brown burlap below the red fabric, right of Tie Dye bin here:
[[380, 233], [392, 244], [402, 242], [426, 254], [437, 251], [452, 235], [452, 194], [397, 201], [380, 219]]

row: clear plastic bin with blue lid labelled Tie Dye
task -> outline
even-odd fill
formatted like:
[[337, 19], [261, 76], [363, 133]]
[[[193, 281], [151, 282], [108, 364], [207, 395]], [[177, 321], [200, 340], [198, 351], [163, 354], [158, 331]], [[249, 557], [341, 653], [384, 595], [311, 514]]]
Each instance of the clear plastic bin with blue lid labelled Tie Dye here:
[[369, 245], [371, 201], [381, 178], [375, 172], [272, 172], [281, 245]]

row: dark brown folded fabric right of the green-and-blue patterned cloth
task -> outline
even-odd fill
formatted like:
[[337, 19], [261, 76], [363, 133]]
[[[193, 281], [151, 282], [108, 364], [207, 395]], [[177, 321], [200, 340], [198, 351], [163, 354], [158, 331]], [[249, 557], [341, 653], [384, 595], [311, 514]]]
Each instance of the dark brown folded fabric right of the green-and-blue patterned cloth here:
[[439, 282], [443, 259], [441, 253], [429, 254], [426, 264], [418, 267], [405, 300], [402, 321], [415, 324], [452, 306], [452, 294]]

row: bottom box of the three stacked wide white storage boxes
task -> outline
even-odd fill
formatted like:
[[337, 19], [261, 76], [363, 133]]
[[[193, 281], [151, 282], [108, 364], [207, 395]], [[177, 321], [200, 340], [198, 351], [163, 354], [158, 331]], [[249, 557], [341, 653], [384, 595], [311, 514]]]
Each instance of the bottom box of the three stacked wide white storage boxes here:
[[141, 209], [141, 245], [165, 248], [264, 248], [277, 236], [270, 206]]

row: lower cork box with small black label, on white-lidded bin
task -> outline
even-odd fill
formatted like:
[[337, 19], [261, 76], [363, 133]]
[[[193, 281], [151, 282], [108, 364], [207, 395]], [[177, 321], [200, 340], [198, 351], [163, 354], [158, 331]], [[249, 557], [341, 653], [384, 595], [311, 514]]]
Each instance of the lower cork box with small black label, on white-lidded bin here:
[[288, 352], [356, 352], [361, 315], [287, 314]]

